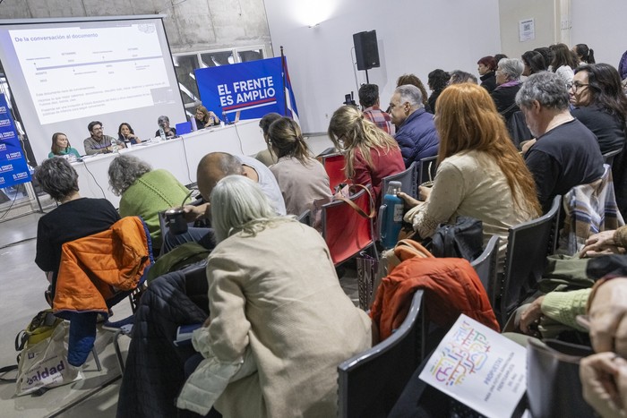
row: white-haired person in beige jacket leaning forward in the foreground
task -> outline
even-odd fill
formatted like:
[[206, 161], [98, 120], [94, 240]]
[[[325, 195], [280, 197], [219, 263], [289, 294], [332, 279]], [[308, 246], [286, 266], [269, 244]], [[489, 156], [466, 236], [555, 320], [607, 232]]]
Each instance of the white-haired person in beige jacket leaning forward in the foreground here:
[[[338, 364], [372, 336], [371, 321], [339, 286], [326, 243], [276, 216], [241, 176], [219, 181], [210, 201], [218, 239], [207, 260], [210, 318], [193, 339], [205, 360], [177, 405], [206, 414], [217, 397], [224, 416], [337, 415]], [[240, 365], [247, 373], [216, 393], [216, 369], [229, 380]]]

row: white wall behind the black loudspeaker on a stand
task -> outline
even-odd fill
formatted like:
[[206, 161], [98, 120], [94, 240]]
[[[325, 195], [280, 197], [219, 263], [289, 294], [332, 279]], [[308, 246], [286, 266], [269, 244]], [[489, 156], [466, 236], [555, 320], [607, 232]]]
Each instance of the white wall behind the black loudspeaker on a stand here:
[[[344, 95], [365, 82], [353, 70], [353, 33], [376, 30], [381, 67], [368, 72], [387, 107], [396, 79], [415, 73], [426, 85], [435, 68], [475, 73], [477, 60], [501, 50], [498, 0], [266, 0], [275, 56], [289, 76], [305, 132], [325, 132]], [[321, 17], [317, 18], [316, 14]], [[307, 27], [317, 19], [315, 28]], [[357, 80], [356, 80], [357, 79]]]

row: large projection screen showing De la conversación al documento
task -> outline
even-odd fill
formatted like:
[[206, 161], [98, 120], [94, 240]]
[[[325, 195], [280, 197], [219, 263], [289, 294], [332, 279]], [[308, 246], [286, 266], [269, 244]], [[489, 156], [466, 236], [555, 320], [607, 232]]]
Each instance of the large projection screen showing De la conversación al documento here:
[[161, 17], [0, 21], [0, 62], [39, 162], [55, 132], [84, 154], [91, 121], [116, 138], [131, 124], [142, 140], [159, 115], [185, 122]]

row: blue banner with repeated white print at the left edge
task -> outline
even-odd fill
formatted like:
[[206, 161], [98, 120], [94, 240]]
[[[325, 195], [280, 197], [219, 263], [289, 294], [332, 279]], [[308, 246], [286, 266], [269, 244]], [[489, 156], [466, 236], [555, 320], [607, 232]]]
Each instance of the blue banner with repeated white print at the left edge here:
[[27, 182], [30, 182], [29, 166], [6, 98], [0, 93], [0, 188]]

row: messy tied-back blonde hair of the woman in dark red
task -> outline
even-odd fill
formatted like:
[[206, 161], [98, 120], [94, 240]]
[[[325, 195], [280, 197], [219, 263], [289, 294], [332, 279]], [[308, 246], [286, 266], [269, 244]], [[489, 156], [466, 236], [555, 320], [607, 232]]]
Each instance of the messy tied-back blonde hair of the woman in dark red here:
[[377, 153], [388, 154], [391, 149], [399, 149], [399, 144], [386, 132], [367, 119], [356, 108], [342, 106], [331, 116], [329, 123], [329, 137], [340, 152], [346, 156], [345, 172], [348, 178], [355, 175], [355, 152], [359, 149], [365, 164], [373, 167], [371, 150]]

